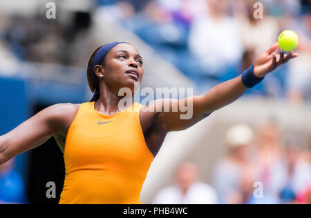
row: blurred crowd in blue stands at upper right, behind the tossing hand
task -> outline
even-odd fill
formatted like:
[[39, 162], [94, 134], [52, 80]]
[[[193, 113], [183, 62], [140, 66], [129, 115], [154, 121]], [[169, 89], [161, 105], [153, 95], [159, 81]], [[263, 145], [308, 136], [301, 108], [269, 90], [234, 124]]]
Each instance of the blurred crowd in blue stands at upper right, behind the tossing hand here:
[[[104, 1], [103, 1], [104, 2]], [[122, 22], [205, 92], [236, 77], [285, 29], [299, 35], [299, 59], [277, 69], [247, 93], [311, 99], [310, 1], [263, 0], [116, 1], [104, 12]], [[262, 18], [258, 18], [262, 9]]]

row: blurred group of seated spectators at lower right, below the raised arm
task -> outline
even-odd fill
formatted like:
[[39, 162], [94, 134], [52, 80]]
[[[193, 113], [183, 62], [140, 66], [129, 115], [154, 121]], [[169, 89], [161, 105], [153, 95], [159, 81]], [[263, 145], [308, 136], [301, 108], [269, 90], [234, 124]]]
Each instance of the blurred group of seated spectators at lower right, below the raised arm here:
[[232, 126], [211, 185], [200, 181], [196, 163], [185, 161], [176, 184], [160, 190], [153, 204], [311, 204], [311, 150], [302, 139], [273, 119], [255, 131], [244, 123]]

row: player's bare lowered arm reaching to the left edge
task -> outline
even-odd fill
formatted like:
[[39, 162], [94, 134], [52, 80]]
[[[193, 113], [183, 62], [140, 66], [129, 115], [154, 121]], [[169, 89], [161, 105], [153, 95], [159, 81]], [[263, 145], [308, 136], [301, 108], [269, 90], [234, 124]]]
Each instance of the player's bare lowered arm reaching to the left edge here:
[[64, 134], [77, 112], [73, 103], [58, 103], [41, 110], [17, 128], [0, 136], [0, 165], [12, 157], [36, 148], [53, 135]]

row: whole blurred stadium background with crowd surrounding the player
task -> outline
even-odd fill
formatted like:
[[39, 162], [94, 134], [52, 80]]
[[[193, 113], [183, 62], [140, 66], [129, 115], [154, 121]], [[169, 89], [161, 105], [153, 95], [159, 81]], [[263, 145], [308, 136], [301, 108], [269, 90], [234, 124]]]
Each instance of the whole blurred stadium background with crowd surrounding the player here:
[[[48, 2], [55, 3], [56, 19], [46, 17]], [[175, 173], [190, 159], [200, 181], [216, 191], [216, 204], [310, 204], [311, 1], [259, 1], [263, 19], [254, 19], [255, 2], [0, 1], [0, 135], [52, 104], [89, 101], [87, 62], [104, 43], [138, 48], [142, 87], [192, 87], [201, 95], [239, 75], [291, 29], [299, 35], [299, 58], [196, 126], [169, 133], [141, 200], [161, 203], [154, 199], [162, 188], [191, 184], [195, 176], [187, 170], [185, 177]], [[252, 134], [229, 137], [238, 123]], [[56, 199], [46, 197], [48, 181], [56, 184]], [[262, 199], [252, 197], [256, 181], [263, 184]], [[50, 139], [1, 166], [0, 202], [57, 204], [63, 183], [62, 152]]]

